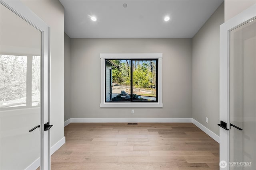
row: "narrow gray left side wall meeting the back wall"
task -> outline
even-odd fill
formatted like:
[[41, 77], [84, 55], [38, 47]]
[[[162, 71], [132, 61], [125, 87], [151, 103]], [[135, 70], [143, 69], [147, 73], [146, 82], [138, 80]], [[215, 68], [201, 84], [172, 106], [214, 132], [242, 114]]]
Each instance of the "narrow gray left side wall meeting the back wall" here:
[[71, 100], [70, 100], [70, 74], [71, 74], [71, 49], [70, 37], [64, 33], [64, 90], [65, 90], [65, 121], [70, 119]]

